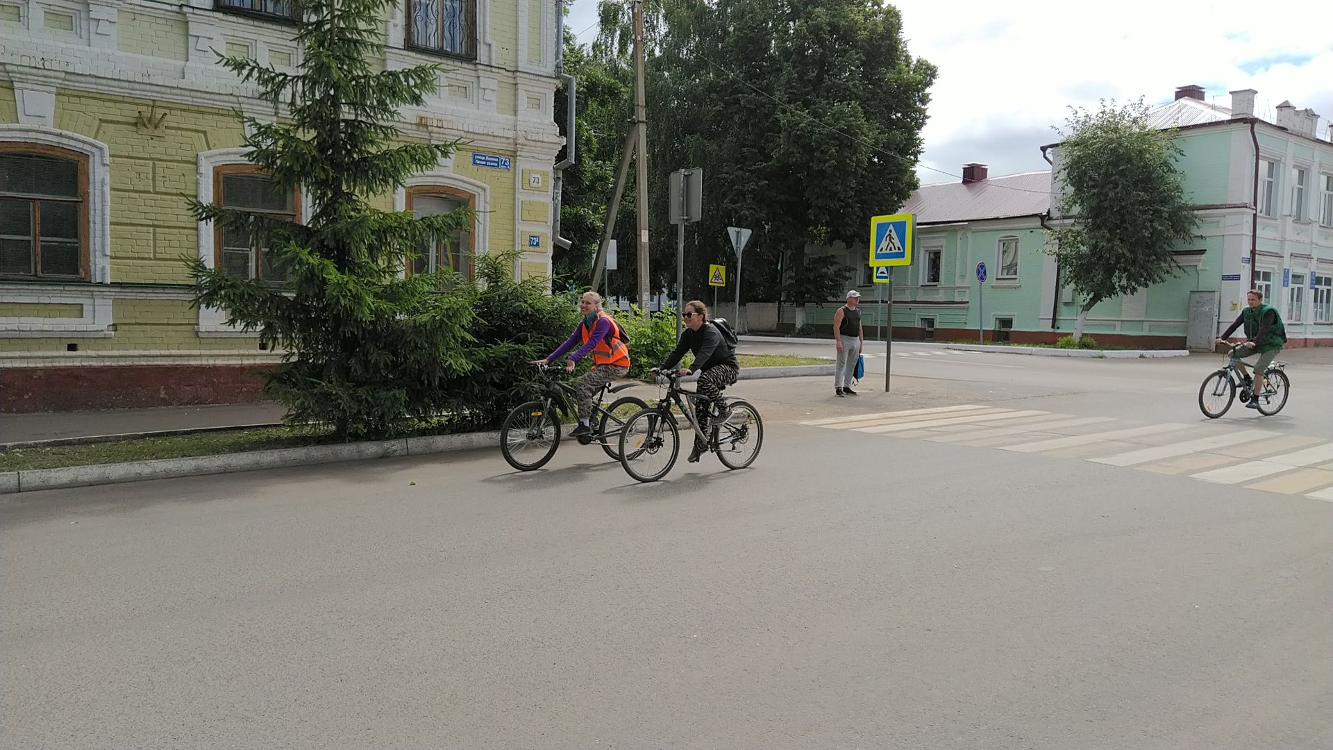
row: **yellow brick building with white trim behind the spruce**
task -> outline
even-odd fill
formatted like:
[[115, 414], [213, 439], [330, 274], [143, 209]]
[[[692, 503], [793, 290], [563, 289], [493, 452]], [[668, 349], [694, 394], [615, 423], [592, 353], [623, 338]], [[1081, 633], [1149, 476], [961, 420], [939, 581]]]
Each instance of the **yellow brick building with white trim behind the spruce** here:
[[[517, 250], [521, 276], [551, 271], [557, 13], [545, 0], [400, 0], [376, 60], [443, 64], [400, 129], [468, 141], [381, 207], [471, 206], [459, 244]], [[255, 396], [245, 371], [273, 352], [191, 307], [183, 258], [253, 276], [263, 254], [195, 222], [185, 199], [229, 203], [261, 179], [236, 112], [275, 116], [216, 52], [295, 68], [293, 37], [281, 0], [0, 0], [0, 411]], [[283, 210], [308, 208], [296, 195]], [[439, 263], [471, 272], [465, 256]]]

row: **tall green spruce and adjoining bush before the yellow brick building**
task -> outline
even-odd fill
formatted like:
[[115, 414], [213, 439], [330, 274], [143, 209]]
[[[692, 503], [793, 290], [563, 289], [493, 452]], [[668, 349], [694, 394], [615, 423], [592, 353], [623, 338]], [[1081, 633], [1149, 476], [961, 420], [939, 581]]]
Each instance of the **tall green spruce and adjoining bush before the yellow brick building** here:
[[447, 240], [471, 215], [419, 219], [371, 203], [457, 145], [403, 143], [395, 127], [400, 107], [425, 103], [439, 68], [368, 64], [384, 53], [392, 3], [289, 0], [304, 47], [299, 72], [223, 60], [287, 109], [277, 123], [248, 119], [245, 145], [275, 190], [309, 198], [303, 224], [191, 202], [197, 219], [228, 235], [263, 238], [272, 251], [261, 262], [285, 278], [241, 279], [193, 259], [193, 303], [225, 310], [232, 324], [285, 350], [263, 375], [265, 394], [287, 404], [289, 419], [332, 423], [341, 438], [385, 435], [404, 418], [441, 411], [491, 419], [507, 392], [524, 387], [513, 363], [549, 346], [572, 310], [539, 284], [513, 282], [513, 258], [477, 259], [483, 284], [451, 271], [404, 275], [419, 248]]

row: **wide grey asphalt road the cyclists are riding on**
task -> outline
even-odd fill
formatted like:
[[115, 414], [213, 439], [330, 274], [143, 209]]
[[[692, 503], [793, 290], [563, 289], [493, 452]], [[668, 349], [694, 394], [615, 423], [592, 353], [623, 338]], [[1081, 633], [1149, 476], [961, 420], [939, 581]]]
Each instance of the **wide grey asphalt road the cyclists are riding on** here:
[[918, 359], [742, 384], [737, 472], [563, 444], [7, 496], [0, 746], [1333, 746], [1333, 503], [1292, 490], [1333, 462], [1196, 476], [1326, 419], [1204, 423], [1212, 358]]

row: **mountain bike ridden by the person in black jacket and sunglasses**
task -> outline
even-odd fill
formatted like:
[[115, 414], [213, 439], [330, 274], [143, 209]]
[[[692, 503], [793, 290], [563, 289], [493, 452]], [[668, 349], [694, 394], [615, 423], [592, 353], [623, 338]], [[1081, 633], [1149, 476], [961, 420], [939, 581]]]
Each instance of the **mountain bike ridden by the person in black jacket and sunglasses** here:
[[734, 470], [754, 463], [764, 447], [764, 422], [754, 404], [736, 398], [725, 399], [724, 412], [709, 410], [709, 434], [705, 436], [697, 419], [702, 396], [681, 388], [680, 374], [676, 371], [663, 372], [660, 383], [663, 382], [666, 392], [657, 404], [631, 416], [620, 432], [620, 464], [627, 474], [640, 482], [656, 482], [676, 466], [680, 456], [680, 427], [672, 406], [680, 410], [690, 431], [704, 440], [708, 451], [717, 454], [722, 466]]

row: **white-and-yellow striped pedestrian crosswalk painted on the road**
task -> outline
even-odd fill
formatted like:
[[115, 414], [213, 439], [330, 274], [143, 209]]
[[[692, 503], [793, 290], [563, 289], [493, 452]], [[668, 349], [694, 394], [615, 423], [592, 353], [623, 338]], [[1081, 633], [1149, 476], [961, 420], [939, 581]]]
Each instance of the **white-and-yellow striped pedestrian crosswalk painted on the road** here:
[[1112, 416], [961, 404], [800, 422], [934, 443], [1072, 458], [1333, 502], [1333, 442], [1228, 423], [1126, 426]]

